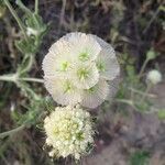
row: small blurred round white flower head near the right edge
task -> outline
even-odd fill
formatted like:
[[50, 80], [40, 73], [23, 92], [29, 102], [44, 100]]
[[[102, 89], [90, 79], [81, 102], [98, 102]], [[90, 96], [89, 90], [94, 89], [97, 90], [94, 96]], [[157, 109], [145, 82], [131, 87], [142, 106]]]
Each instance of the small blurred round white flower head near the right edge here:
[[162, 74], [156, 69], [150, 70], [146, 76], [146, 81], [156, 85], [162, 81]]

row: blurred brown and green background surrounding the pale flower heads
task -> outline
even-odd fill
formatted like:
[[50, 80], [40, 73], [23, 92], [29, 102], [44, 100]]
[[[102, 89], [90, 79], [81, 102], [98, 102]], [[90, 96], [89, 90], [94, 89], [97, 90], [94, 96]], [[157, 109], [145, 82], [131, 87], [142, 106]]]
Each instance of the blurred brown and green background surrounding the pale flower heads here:
[[[16, 1], [9, 2], [20, 20], [32, 26], [33, 14]], [[22, 2], [34, 11], [34, 0]], [[75, 31], [96, 34], [110, 43], [122, 73], [117, 101], [105, 102], [91, 112], [99, 116], [99, 133], [94, 152], [80, 163], [165, 165], [165, 2], [38, 0], [41, 35], [29, 45], [22, 41], [23, 33], [7, 4], [0, 1], [0, 75], [4, 75], [0, 76], [0, 165], [74, 164], [70, 158], [51, 161], [43, 151], [46, 106], [42, 102], [53, 101], [42, 84], [41, 66], [48, 47]], [[32, 58], [26, 54], [33, 54]], [[163, 80], [147, 91], [145, 76], [151, 69], [160, 70]], [[15, 80], [15, 73], [36, 79]], [[140, 102], [145, 91], [148, 97]]]

